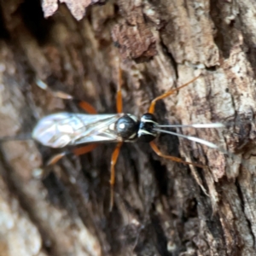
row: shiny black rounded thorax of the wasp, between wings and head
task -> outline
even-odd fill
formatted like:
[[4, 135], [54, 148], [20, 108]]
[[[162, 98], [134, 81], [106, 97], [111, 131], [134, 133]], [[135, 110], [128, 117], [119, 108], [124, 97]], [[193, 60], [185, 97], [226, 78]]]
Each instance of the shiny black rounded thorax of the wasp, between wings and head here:
[[137, 122], [137, 119], [131, 118], [128, 114], [119, 118], [115, 123], [115, 131], [119, 137], [122, 137], [125, 140], [135, 139], [137, 137], [138, 127], [139, 123]]

